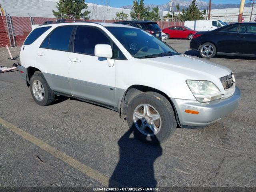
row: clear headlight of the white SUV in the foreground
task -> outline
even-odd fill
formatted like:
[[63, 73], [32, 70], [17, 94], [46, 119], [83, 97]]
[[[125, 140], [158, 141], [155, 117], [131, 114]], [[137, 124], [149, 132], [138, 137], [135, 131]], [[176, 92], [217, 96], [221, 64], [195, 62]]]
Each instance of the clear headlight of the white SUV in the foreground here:
[[221, 98], [221, 92], [210, 81], [186, 80], [188, 87], [199, 102], [214, 101]]

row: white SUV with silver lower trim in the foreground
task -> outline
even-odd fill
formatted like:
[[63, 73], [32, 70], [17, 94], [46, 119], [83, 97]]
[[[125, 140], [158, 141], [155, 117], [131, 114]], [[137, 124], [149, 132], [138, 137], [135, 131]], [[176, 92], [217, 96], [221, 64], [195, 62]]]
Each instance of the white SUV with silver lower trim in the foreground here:
[[177, 126], [208, 126], [240, 99], [230, 69], [179, 54], [121, 24], [38, 26], [25, 40], [20, 62], [37, 104], [50, 105], [55, 95], [64, 95], [106, 106], [151, 143], [163, 142]]

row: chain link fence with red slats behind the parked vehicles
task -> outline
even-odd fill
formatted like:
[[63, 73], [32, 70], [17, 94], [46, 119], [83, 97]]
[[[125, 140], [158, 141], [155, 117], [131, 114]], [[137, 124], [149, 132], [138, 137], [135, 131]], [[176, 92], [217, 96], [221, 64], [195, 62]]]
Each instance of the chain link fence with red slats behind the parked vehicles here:
[[[56, 21], [56, 18], [43, 18], [43, 17], [17, 17], [10, 16], [5, 13], [5, 16], [0, 16], [0, 47], [6, 45], [11, 47], [22, 46], [24, 40], [32, 30], [32, 25], [44, 24], [46, 21]], [[85, 20], [88, 22], [106, 22], [113, 23], [117, 20]], [[72, 21], [69, 21], [72, 22]], [[173, 26], [181, 25], [183, 22], [166, 22], [158, 21], [158, 25], [161, 29]]]

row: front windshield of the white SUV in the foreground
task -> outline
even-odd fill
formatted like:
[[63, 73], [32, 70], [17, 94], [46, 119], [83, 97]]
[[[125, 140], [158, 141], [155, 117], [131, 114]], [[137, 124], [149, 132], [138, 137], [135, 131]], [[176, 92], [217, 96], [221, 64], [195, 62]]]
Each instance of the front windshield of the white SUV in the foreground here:
[[106, 27], [135, 58], [153, 58], [178, 53], [144, 30], [126, 27]]

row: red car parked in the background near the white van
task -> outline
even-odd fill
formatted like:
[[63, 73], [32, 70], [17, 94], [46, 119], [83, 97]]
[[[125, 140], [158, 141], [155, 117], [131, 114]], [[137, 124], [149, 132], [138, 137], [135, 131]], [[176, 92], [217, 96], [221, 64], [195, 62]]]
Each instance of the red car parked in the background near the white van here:
[[192, 40], [194, 34], [197, 32], [188, 27], [184, 26], [171, 26], [162, 30], [162, 32], [166, 33], [168, 39], [169, 38], [184, 38]]

